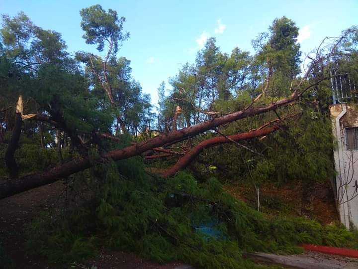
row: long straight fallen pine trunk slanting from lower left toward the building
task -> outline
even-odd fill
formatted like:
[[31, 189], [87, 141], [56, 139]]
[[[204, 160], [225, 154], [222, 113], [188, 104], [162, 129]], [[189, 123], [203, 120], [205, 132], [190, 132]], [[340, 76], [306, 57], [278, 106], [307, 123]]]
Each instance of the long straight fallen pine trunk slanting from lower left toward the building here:
[[[289, 98], [284, 98], [277, 102], [271, 103], [267, 106], [259, 107], [259, 108], [251, 107], [247, 110], [242, 110], [222, 117], [217, 117], [212, 120], [188, 128], [184, 128], [176, 132], [162, 134], [154, 138], [151, 138], [147, 141], [143, 141], [141, 143], [134, 144], [120, 150], [111, 151], [108, 154], [104, 155], [103, 157], [112, 158], [113, 160], [130, 158], [139, 155], [147, 150], [153, 149], [155, 147], [160, 147], [165, 144], [171, 143], [173, 141], [181, 140], [185, 137], [190, 137], [200, 134], [202, 132], [224, 125], [226, 123], [231, 123], [243, 118], [251, 117], [258, 114], [263, 114], [268, 111], [277, 109], [279, 107], [285, 106], [297, 100], [299, 96], [300, 95], [298, 94], [298, 92], [295, 91]], [[39, 174], [23, 176], [16, 180], [11, 180], [11, 182], [0, 184], [0, 199], [32, 188], [50, 184], [61, 178], [65, 178], [74, 173], [85, 170], [93, 165], [94, 163], [90, 162], [89, 159], [78, 158], [78, 159], [71, 160], [67, 163], [64, 163], [60, 166], [50, 168], [49, 170], [41, 172]]]

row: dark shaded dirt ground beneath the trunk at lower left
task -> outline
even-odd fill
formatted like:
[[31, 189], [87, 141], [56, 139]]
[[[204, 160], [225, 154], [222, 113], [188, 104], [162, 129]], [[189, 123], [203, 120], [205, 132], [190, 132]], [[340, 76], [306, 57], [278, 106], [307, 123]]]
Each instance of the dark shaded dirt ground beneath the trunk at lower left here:
[[174, 269], [181, 265], [159, 265], [133, 254], [106, 250], [85, 264], [69, 266], [49, 264], [43, 257], [28, 256], [24, 250], [24, 224], [30, 222], [37, 212], [52, 210], [63, 195], [64, 184], [56, 182], [0, 200], [0, 242], [15, 262], [16, 269], [91, 269], [92, 266], [97, 269]]

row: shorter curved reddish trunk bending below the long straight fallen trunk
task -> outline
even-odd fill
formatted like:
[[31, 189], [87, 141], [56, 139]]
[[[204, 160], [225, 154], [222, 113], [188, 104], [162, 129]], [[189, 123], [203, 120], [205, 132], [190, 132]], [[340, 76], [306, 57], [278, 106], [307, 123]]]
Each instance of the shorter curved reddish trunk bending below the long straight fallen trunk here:
[[[258, 136], [264, 136], [264, 135], [270, 134], [278, 129], [279, 129], [279, 125], [274, 125], [272, 127], [268, 127], [265, 129], [255, 130], [255, 131], [251, 131], [251, 132], [244, 133], [244, 134], [229, 135], [227, 137], [234, 141], [240, 141], [240, 140], [245, 140], [245, 139], [254, 138], [254, 137], [258, 137]], [[194, 146], [192, 148], [192, 150], [190, 152], [186, 153], [182, 158], [180, 158], [178, 160], [178, 162], [173, 167], [166, 170], [162, 174], [162, 176], [163, 177], [172, 176], [179, 170], [185, 168], [195, 159], [195, 157], [197, 155], [199, 155], [201, 153], [201, 151], [203, 151], [204, 148], [212, 147], [212, 146], [215, 146], [218, 144], [223, 144], [223, 143], [230, 143], [231, 140], [228, 138], [218, 136], [218, 137], [206, 139], [206, 140], [198, 143], [196, 146]]]

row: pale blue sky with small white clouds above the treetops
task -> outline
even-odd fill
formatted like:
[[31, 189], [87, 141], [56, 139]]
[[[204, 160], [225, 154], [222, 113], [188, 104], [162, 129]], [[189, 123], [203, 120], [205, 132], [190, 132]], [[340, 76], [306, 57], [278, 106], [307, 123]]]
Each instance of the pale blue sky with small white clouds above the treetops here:
[[304, 54], [325, 36], [338, 36], [358, 24], [358, 0], [0, 0], [0, 13], [13, 16], [24, 11], [36, 25], [60, 32], [70, 52], [96, 52], [82, 38], [79, 11], [97, 3], [126, 17], [130, 39], [119, 55], [131, 60], [133, 77], [152, 95], [153, 103], [159, 84], [164, 80], [170, 88], [168, 78], [184, 63], [193, 63], [210, 36], [224, 52], [239, 47], [253, 53], [251, 40], [284, 15], [301, 29]]

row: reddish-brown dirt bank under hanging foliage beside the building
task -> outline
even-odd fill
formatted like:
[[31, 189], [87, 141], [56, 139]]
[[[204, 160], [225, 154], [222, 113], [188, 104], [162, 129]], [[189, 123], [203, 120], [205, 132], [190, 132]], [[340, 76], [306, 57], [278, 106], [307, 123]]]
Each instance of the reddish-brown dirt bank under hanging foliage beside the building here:
[[[252, 186], [227, 184], [224, 189], [257, 208], [257, 192]], [[299, 181], [281, 186], [267, 183], [259, 188], [261, 211], [268, 215], [293, 215], [316, 219], [321, 224], [338, 222], [334, 194], [329, 182], [304, 184]]]

